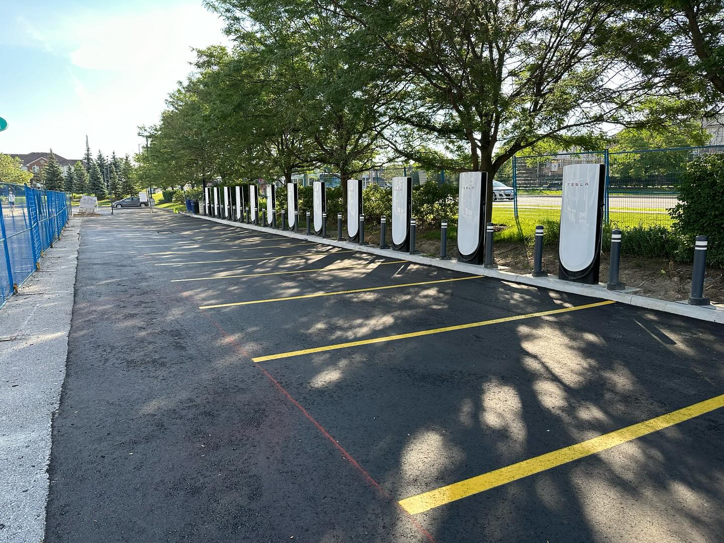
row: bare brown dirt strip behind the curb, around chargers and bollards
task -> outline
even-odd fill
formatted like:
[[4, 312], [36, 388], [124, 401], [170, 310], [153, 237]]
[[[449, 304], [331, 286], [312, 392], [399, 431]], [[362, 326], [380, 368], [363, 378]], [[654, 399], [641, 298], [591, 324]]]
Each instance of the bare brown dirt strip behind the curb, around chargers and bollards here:
[[[365, 237], [369, 243], [379, 245], [379, 229], [366, 230]], [[390, 243], [390, 231], [387, 230], [387, 243]], [[416, 248], [421, 253], [439, 258], [439, 240], [428, 240], [418, 237]], [[447, 254], [458, 258], [457, 245], [454, 239], [447, 240]], [[506, 271], [518, 274], [529, 274], [533, 269], [533, 251], [525, 243], [496, 243], [494, 245], [495, 263], [505, 266]], [[600, 281], [608, 280], [608, 263], [610, 255], [601, 254]], [[558, 251], [544, 248], [543, 269], [549, 274], [558, 273]], [[620, 262], [620, 280], [627, 287], [641, 289], [637, 295], [659, 298], [660, 300], [686, 300], [691, 292], [691, 264], [669, 261], [665, 258], [641, 258], [622, 256]], [[712, 302], [724, 303], [724, 269], [707, 267], [704, 279], [704, 295]]]

